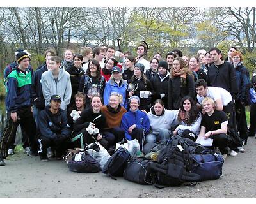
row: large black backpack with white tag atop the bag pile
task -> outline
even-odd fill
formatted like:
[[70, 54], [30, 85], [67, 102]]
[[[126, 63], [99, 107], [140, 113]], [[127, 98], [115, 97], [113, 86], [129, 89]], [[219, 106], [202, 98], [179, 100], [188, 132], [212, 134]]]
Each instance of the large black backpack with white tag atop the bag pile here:
[[166, 147], [159, 152], [157, 163], [150, 164], [156, 174], [154, 186], [180, 186], [187, 181], [200, 180], [200, 175], [189, 171], [191, 158], [188, 142], [180, 136], [172, 136]]

